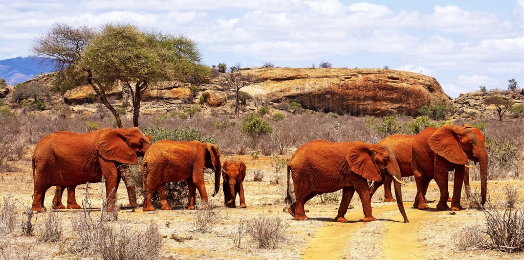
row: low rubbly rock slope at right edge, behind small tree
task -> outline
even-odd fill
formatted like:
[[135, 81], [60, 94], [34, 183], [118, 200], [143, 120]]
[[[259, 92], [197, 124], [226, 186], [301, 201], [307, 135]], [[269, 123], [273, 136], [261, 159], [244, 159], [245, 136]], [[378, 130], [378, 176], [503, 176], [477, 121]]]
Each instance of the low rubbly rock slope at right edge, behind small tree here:
[[[480, 118], [498, 118], [495, 105], [486, 106], [484, 99], [489, 96], [501, 96], [511, 100], [514, 105], [524, 105], [524, 92], [514, 91], [489, 91], [482, 93], [468, 92], [461, 94], [453, 101], [455, 112], [453, 118], [462, 119], [480, 119]], [[506, 115], [509, 116], [507, 111]]]

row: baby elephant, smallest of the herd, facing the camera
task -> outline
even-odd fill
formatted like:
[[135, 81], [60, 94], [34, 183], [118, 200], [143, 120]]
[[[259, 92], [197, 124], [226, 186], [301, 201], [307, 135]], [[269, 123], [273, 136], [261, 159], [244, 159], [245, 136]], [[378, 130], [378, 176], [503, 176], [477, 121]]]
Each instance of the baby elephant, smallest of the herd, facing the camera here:
[[240, 193], [240, 207], [246, 208], [246, 199], [244, 198], [244, 178], [246, 177], [246, 165], [242, 161], [226, 161], [222, 165], [222, 178], [224, 184], [224, 206], [236, 208], [236, 195]]

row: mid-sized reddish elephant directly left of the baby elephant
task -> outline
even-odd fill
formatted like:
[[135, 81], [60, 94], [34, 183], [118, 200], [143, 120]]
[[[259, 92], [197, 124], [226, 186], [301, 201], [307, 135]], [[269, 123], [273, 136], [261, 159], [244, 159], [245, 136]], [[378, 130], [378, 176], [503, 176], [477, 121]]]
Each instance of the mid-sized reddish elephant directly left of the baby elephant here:
[[202, 201], [208, 201], [205, 190], [204, 167], [215, 172], [214, 197], [220, 189], [220, 151], [216, 145], [199, 141], [177, 142], [161, 140], [151, 145], [142, 164], [142, 183], [146, 193], [144, 211], [154, 211], [151, 198], [155, 190], [160, 197], [160, 209], [170, 210], [164, 184], [186, 180], [189, 189], [188, 209], [194, 209], [196, 190]]

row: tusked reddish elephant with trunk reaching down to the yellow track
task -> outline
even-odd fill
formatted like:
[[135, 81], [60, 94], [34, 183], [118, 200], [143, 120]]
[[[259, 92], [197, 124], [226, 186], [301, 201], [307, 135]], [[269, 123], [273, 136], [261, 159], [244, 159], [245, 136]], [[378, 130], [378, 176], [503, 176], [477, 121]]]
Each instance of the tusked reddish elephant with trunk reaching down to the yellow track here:
[[[296, 201], [291, 204], [289, 175], [292, 175]], [[351, 199], [357, 192], [362, 201], [364, 222], [374, 221], [367, 180], [380, 182], [386, 173], [394, 176], [397, 204], [408, 222], [402, 202], [400, 170], [395, 155], [387, 146], [364, 142], [328, 142], [314, 140], [300, 146], [287, 167], [288, 187], [286, 202], [288, 212], [295, 220], [308, 220], [304, 204], [316, 195], [342, 189], [337, 222], [344, 218]]]

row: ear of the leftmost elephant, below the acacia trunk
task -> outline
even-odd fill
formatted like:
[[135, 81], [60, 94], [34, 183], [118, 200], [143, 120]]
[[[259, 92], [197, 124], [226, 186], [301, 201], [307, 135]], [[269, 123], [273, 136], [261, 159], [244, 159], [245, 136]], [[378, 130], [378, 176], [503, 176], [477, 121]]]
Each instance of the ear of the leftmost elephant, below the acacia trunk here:
[[112, 129], [98, 138], [96, 150], [106, 160], [124, 164], [137, 164], [138, 158], [125, 138], [126, 129]]

